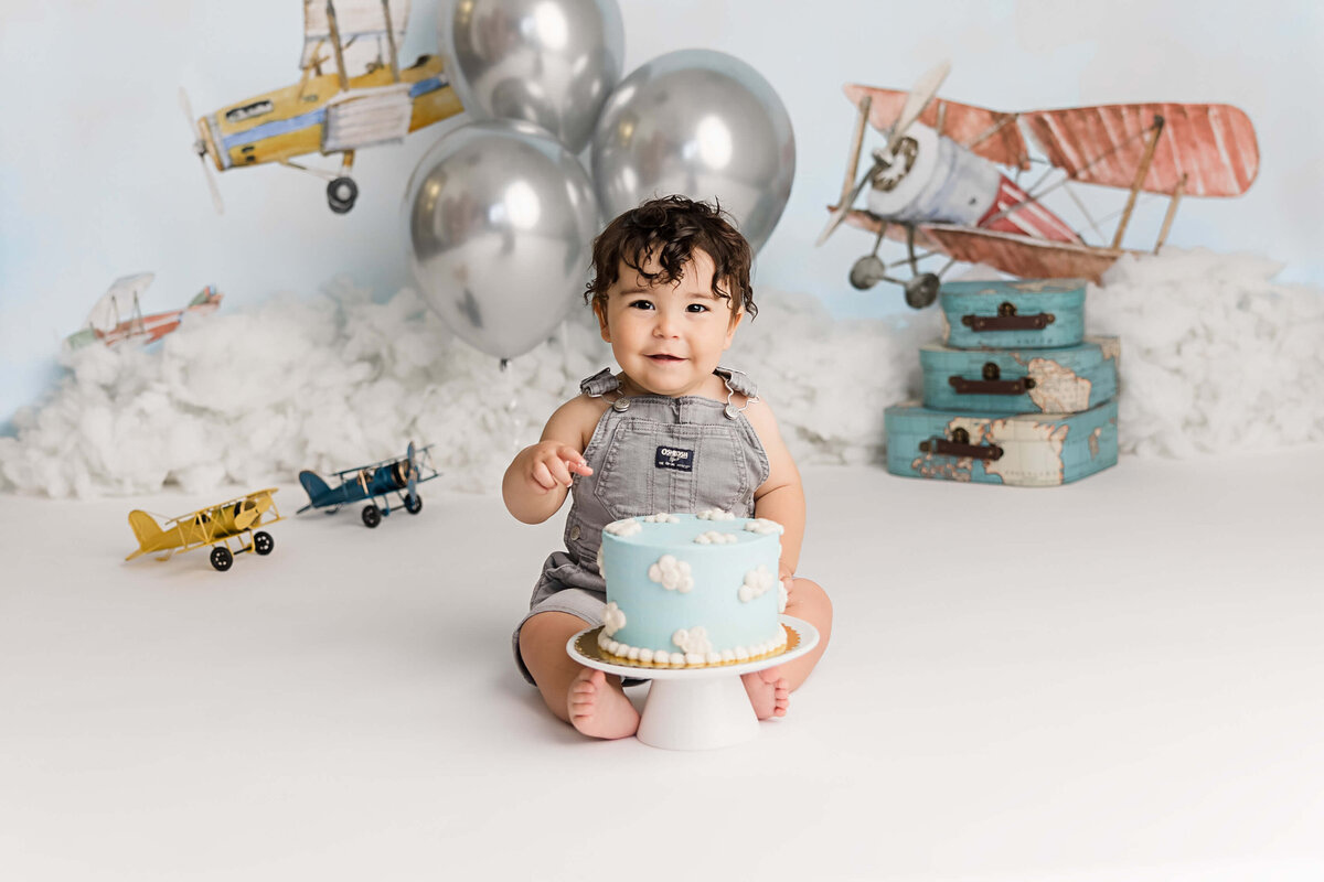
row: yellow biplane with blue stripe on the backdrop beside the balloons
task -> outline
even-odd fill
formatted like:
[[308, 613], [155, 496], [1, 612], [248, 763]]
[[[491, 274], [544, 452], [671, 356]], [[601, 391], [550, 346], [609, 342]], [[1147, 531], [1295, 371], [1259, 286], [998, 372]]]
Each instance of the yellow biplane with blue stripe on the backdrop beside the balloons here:
[[[421, 56], [410, 67], [397, 57], [409, 0], [303, 0], [303, 75], [294, 86], [229, 104], [195, 122], [188, 95], [180, 106], [196, 140], [212, 202], [221, 194], [207, 160], [220, 172], [279, 163], [327, 181], [331, 210], [344, 214], [359, 198], [350, 177], [355, 151], [405, 135], [463, 110], [441, 58]], [[339, 171], [291, 161], [305, 153], [340, 153]]]

